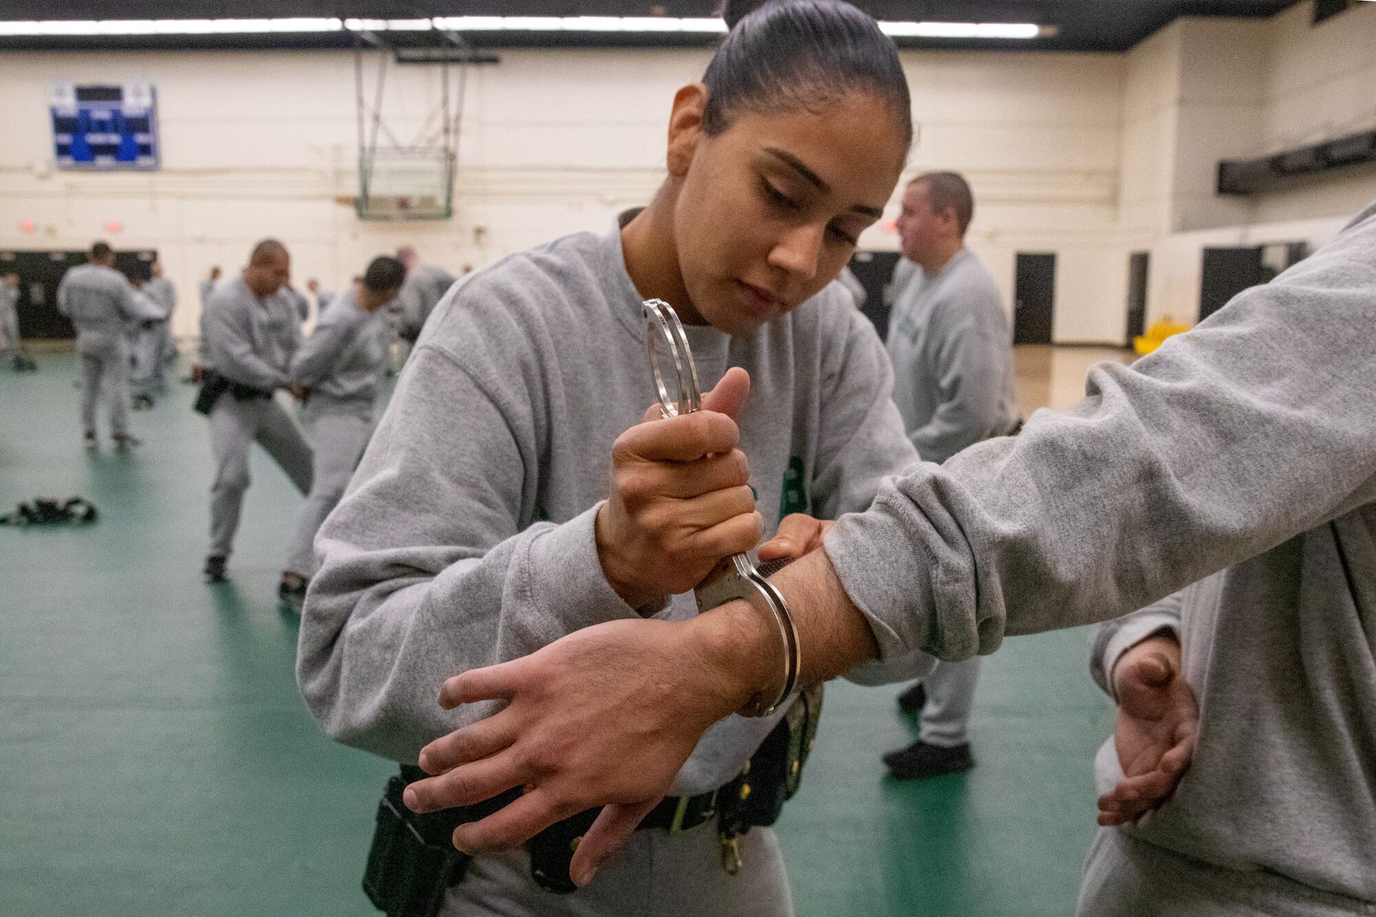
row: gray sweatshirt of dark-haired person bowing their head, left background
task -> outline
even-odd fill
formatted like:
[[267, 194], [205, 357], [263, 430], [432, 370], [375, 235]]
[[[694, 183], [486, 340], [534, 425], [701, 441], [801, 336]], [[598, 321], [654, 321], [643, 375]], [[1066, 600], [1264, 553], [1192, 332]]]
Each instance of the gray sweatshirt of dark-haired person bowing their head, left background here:
[[311, 390], [315, 410], [372, 417], [385, 362], [387, 319], [359, 308], [354, 291], [344, 291], [292, 358], [292, 379]]

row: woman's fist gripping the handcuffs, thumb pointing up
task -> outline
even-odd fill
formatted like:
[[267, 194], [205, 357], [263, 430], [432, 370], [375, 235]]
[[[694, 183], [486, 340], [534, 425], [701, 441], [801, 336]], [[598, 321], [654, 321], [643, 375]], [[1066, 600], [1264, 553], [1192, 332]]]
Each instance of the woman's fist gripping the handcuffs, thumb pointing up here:
[[633, 609], [688, 592], [722, 558], [764, 534], [750, 464], [736, 449], [736, 416], [750, 376], [729, 370], [703, 410], [632, 427], [612, 446], [611, 496], [597, 512], [597, 558], [607, 582]]

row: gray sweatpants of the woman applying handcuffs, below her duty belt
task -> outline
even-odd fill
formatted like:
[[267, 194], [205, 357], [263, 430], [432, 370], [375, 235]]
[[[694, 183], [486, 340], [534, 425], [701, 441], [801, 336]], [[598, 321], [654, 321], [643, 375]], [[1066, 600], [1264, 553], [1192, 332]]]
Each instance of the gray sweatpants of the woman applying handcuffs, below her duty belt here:
[[717, 825], [677, 834], [636, 832], [585, 888], [545, 891], [530, 877], [530, 856], [513, 851], [479, 856], [449, 889], [444, 917], [791, 917], [793, 894], [768, 828], [740, 839], [740, 872], [721, 867]]

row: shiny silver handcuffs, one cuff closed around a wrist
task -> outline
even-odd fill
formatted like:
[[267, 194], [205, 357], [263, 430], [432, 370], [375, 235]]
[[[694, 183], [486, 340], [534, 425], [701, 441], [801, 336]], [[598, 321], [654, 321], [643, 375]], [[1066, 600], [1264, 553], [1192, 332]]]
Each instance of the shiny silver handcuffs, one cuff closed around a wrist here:
[[[644, 313], [648, 332], [645, 350], [649, 354], [649, 369], [655, 376], [660, 413], [665, 417], [678, 417], [702, 410], [698, 366], [694, 363], [682, 322], [678, 321], [673, 307], [662, 299], [645, 300]], [[677, 398], [669, 391], [666, 368], [660, 366], [656, 341], [667, 350], [667, 362], [673, 363]], [[764, 698], [757, 695], [740, 710], [742, 716], [769, 716], [797, 691], [798, 675], [802, 671], [802, 646], [798, 642], [798, 628], [793, 622], [788, 603], [743, 554], [722, 558], [707, 574], [707, 578], [694, 589], [694, 598], [698, 599], [699, 613], [710, 611], [728, 602], [749, 602], [753, 609], [766, 614], [777, 626], [784, 655], [783, 687], [779, 688], [779, 695], [775, 697], [773, 702], [765, 704]]]

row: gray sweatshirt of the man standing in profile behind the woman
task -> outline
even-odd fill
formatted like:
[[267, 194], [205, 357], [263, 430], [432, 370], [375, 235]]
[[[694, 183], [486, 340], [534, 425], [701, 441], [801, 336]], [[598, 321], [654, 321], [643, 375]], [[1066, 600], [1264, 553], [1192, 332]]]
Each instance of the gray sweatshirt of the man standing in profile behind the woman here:
[[970, 249], [956, 252], [936, 277], [919, 268], [894, 292], [888, 348], [893, 398], [925, 460], [945, 461], [1013, 430], [1018, 402], [1009, 321], [999, 288]]

